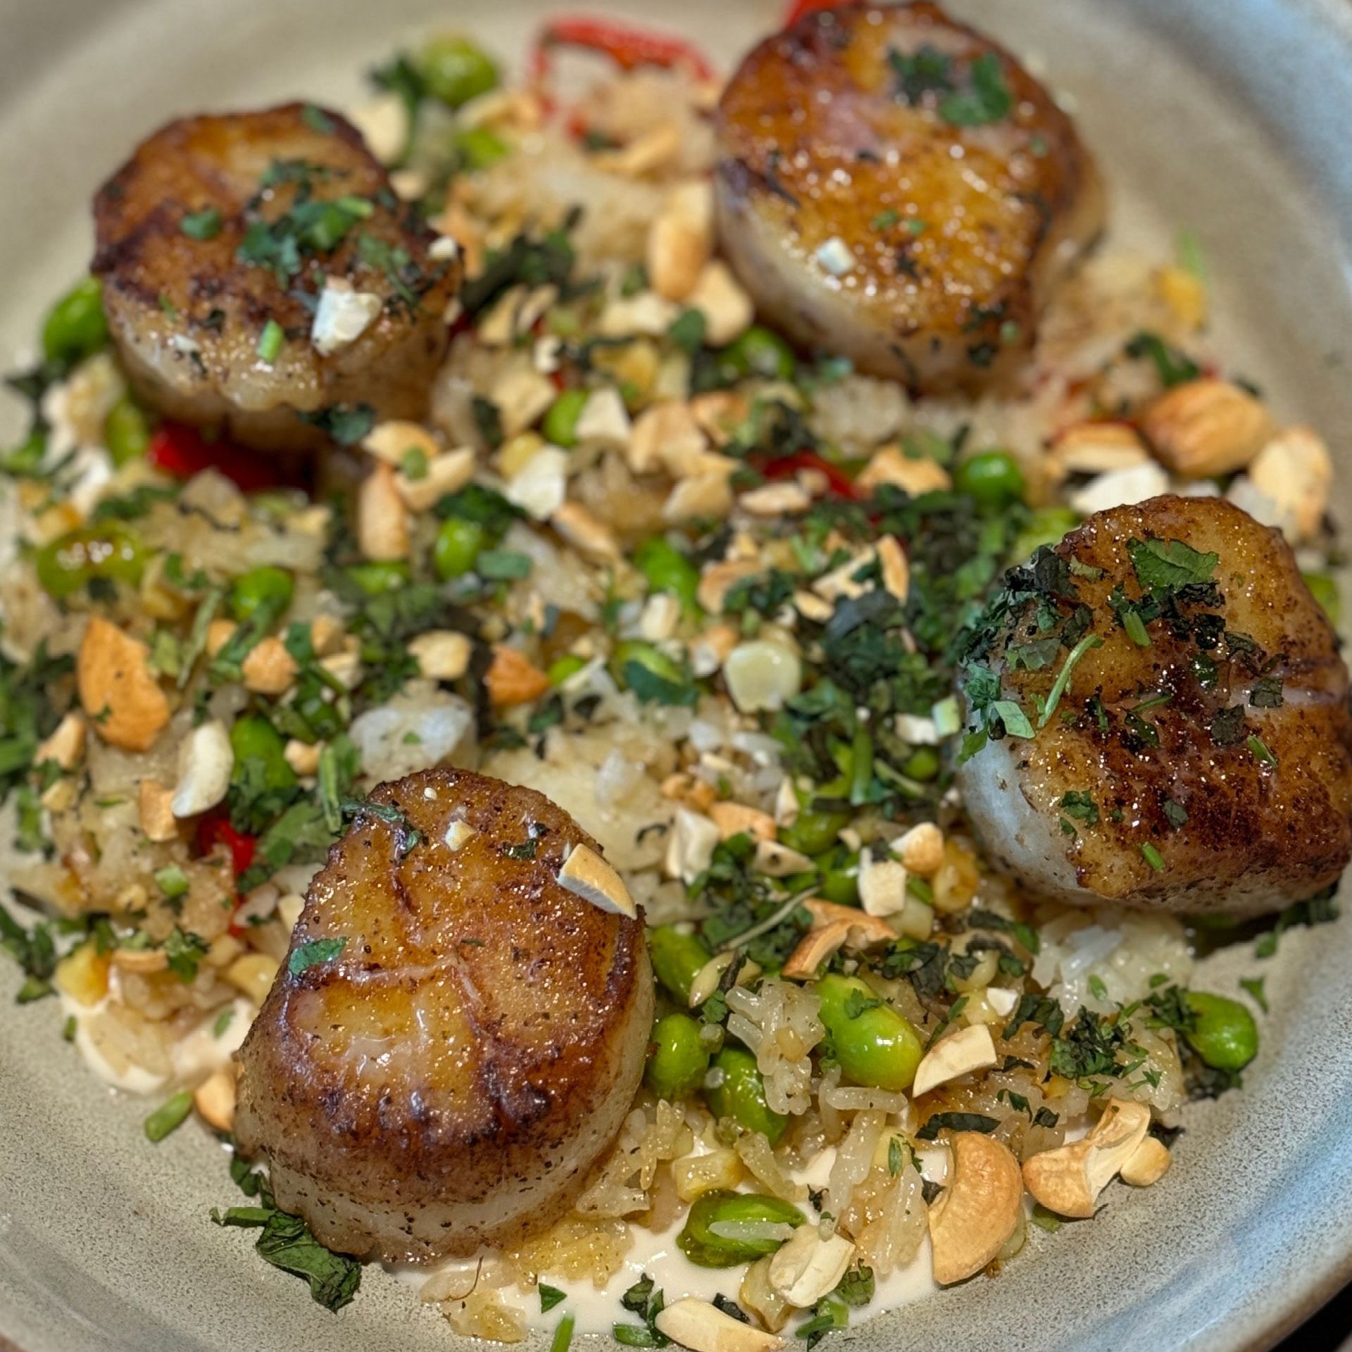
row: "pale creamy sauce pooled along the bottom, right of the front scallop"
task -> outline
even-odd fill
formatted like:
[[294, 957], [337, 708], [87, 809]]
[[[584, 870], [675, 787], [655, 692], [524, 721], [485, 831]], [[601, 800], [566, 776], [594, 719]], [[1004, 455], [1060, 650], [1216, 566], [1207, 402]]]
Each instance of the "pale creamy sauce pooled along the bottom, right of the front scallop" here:
[[[942, 1155], [946, 1168], [946, 1151], [927, 1152]], [[802, 1182], [813, 1187], [821, 1187], [826, 1182], [831, 1163], [836, 1157], [833, 1149], [823, 1151], [808, 1168], [799, 1174]], [[938, 1163], [938, 1161], [936, 1161]], [[927, 1176], [927, 1172], [926, 1172]], [[808, 1211], [808, 1214], [811, 1214]], [[633, 1226], [634, 1247], [626, 1255], [619, 1271], [599, 1290], [591, 1282], [569, 1283], [558, 1278], [545, 1276], [549, 1286], [566, 1291], [568, 1298], [560, 1302], [548, 1314], [539, 1310], [539, 1297], [534, 1290], [522, 1291], [516, 1286], [499, 1288], [498, 1294], [504, 1306], [515, 1311], [522, 1322], [531, 1329], [553, 1329], [560, 1318], [572, 1314], [577, 1321], [577, 1333], [604, 1333], [610, 1334], [615, 1324], [641, 1322], [635, 1314], [621, 1305], [621, 1297], [639, 1278], [650, 1276], [653, 1283], [661, 1288], [665, 1301], [671, 1305], [683, 1297], [691, 1295], [700, 1301], [713, 1301], [718, 1294], [737, 1299], [737, 1288], [741, 1284], [744, 1265], [730, 1268], [702, 1268], [696, 1267], [681, 1253], [676, 1244], [681, 1226], [685, 1224], [684, 1215], [676, 1218], [664, 1230], [648, 1230], [642, 1226]], [[492, 1249], [484, 1249], [481, 1256], [472, 1259], [454, 1259], [435, 1267], [420, 1267], [411, 1263], [387, 1264], [387, 1268], [414, 1287], [420, 1287], [434, 1274], [458, 1274], [464, 1276], [464, 1283], [456, 1290], [468, 1291], [475, 1283], [475, 1272], [480, 1257], [491, 1259]], [[852, 1311], [852, 1318], [872, 1318], [887, 1310], [910, 1305], [923, 1299], [937, 1291], [934, 1284], [933, 1264], [930, 1261], [929, 1237], [926, 1236], [915, 1257], [903, 1268], [890, 1276], [877, 1278], [872, 1302], [860, 1311]]]

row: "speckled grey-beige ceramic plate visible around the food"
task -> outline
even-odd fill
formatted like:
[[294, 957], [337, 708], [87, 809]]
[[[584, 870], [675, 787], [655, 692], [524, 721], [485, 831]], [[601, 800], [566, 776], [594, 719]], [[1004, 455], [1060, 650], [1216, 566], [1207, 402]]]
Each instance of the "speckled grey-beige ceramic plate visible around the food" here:
[[[598, 8], [607, 8], [598, 5]], [[773, 26], [761, 0], [683, 0], [726, 62]], [[1218, 346], [1283, 418], [1352, 427], [1352, 5], [1343, 0], [967, 0], [1080, 119], [1118, 239], [1201, 237]], [[0, 354], [89, 257], [88, 200], [170, 116], [308, 96], [342, 104], [402, 39], [462, 20], [519, 53], [525, 0], [0, 0]], [[19, 427], [0, 410], [0, 442]], [[1336, 510], [1352, 521], [1352, 466]], [[1233, 988], [1252, 944], [1213, 959]], [[1109, 1214], [1032, 1232], [977, 1278], [850, 1334], [859, 1352], [1265, 1348], [1352, 1276], [1352, 922], [1286, 937], [1263, 964], [1272, 1015], [1242, 1094], [1190, 1109], [1167, 1183]], [[50, 1003], [15, 1006], [0, 964], [0, 1347], [23, 1352], [435, 1348], [457, 1341], [379, 1268], [339, 1315], [265, 1267], [238, 1230], [223, 1153], [183, 1130], [151, 1146], [61, 1041]]]

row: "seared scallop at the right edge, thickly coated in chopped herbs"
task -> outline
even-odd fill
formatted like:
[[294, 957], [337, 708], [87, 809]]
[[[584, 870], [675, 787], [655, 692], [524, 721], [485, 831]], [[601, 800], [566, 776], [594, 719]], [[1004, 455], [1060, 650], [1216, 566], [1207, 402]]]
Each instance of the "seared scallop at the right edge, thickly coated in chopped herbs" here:
[[967, 813], [1044, 896], [1253, 915], [1352, 856], [1347, 667], [1280, 533], [1230, 503], [1155, 498], [1040, 550], [964, 690]]

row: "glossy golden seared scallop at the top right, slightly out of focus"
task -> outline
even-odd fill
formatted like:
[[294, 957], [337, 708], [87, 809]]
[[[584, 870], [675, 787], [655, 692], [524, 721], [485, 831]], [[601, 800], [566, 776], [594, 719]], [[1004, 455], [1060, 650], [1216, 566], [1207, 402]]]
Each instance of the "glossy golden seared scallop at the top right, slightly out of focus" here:
[[975, 389], [1028, 352], [1098, 234], [1069, 118], [933, 4], [821, 11], [742, 62], [718, 110], [722, 246], [804, 345], [917, 389]]

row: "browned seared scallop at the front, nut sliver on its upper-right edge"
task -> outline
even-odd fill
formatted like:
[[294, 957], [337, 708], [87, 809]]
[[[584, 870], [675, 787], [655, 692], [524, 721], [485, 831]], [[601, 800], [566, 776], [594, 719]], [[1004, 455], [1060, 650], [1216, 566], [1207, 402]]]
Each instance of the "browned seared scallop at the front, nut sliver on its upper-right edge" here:
[[533, 790], [437, 769], [370, 804], [239, 1052], [235, 1134], [330, 1248], [472, 1253], [557, 1218], [619, 1132], [644, 925], [557, 880], [595, 842]]

